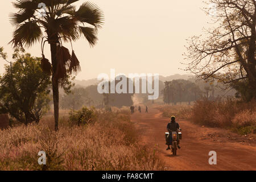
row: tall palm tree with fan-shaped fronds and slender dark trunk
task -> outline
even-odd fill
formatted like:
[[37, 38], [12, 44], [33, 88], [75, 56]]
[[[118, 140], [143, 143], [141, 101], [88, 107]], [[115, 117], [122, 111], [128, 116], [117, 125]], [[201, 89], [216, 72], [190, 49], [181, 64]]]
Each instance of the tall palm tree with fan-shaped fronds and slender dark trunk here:
[[[84, 2], [77, 10], [73, 5], [77, 1], [16, 0], [13, 6], [19, 11], [10, 15], [10, 22], [15, 26], [13, 40], [10, 42], [14, 47], [30, 47], [41, 42], [42, 69], [52, 74], [55, 130], [58, 130], [59, 121], [60, 83], [69, 75], [81, 71], [73, 48], [70, 54], [62, 43], [76, 41], [84, 36], [90, 46], [94, 46], [98, 40], [97, 30], [104, 20], [102, 11], [96, 5]], [[42, 3], [46, 5], [43, 16], [39, 8]], [[51, 63], [43, 53], [46, 42], [51, 47]]]

